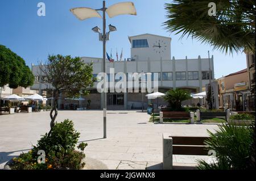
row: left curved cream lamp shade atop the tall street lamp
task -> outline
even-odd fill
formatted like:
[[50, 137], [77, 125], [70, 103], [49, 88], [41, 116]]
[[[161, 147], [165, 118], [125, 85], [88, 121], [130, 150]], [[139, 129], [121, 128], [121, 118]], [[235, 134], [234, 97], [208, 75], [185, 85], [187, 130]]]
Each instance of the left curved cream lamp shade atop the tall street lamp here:
[[88, 18], [101, 18], [101, 15], [93, 9], [90, 9], [88, 7], [76, 7], [70, 10], [76, 18], [80, 20], [85, 20]]

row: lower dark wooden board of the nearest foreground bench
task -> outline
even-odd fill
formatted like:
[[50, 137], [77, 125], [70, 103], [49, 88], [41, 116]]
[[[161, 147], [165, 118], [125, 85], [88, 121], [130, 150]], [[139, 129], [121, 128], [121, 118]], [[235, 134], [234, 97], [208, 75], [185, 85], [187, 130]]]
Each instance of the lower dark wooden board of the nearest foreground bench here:
[[172, 154], [180, 155], [208, 155], [207, 146], [172, 145]]

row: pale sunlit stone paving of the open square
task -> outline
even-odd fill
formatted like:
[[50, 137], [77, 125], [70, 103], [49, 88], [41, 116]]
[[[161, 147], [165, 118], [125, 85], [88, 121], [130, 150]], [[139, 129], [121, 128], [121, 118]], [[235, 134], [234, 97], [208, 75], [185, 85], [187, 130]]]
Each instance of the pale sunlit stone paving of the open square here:
[[[87, 157], [99, 159], [109, 169], [159, 169], [162, 162], [162, 133], [174, 136], [208, 136], [217, 124], [148, 123], [140, 111], [108, 111], [107, 138], [103, 139], [102, 111], [59, 111], [57, 121], [71, 119], [88, 143]], [[49, 131], [49, 112], [0, 116], [0, 169], [5, 163], [36, 145]], [[174, 155], [174, 165], [195, 164], [202, 156]]]

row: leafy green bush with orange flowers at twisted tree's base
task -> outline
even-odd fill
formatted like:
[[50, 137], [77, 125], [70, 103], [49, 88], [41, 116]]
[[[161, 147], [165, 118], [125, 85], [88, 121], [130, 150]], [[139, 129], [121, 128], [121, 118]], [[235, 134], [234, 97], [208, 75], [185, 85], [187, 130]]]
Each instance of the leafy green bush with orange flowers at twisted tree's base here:
[[[79, 132], [73, 128], [71, 120], [64, 120], [61, 123], [56, 123], [50, 134], [45, 134], [36, 146], [28, 153], [22, 153], [18, 158], [13, 159], [12, 169], [19, 170], [36, 170], [36, 169], [81, 169], [85, 163], [82, 159], [85, 158], [83, 153], [87, 146], [81, 143], [77, 148], [82, 151], [75, 150]], [[38, 151], [46, 152], [46, 163], [38, 163]]]

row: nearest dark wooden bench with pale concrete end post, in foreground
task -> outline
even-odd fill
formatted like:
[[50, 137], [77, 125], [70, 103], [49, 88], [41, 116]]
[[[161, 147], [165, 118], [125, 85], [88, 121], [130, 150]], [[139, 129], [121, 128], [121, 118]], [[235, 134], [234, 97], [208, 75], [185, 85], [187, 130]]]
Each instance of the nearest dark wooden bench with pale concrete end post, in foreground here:
[[170, 136], [163, 133], [163, 169], [173, 168], [172, 155], [208, 155], [204, 141], [210, 137]]

